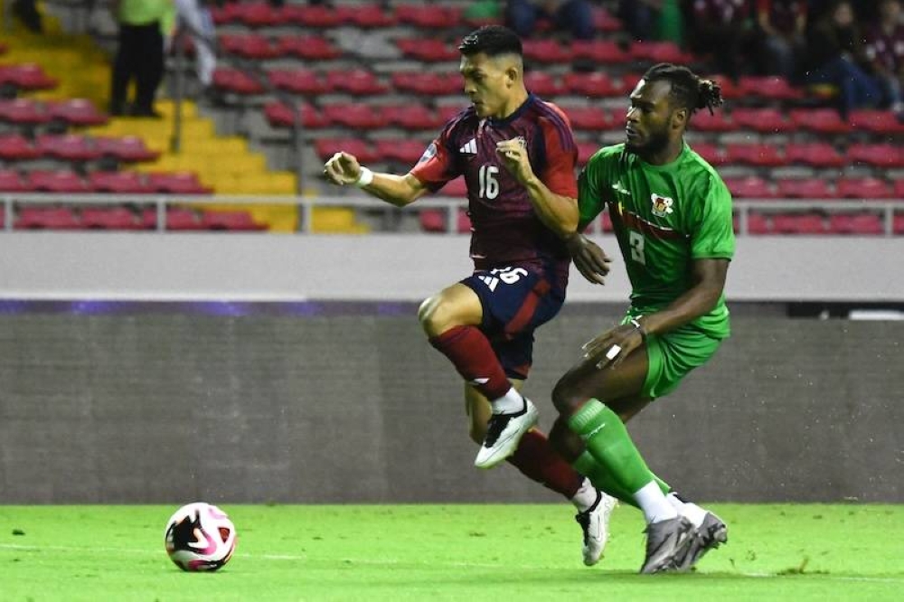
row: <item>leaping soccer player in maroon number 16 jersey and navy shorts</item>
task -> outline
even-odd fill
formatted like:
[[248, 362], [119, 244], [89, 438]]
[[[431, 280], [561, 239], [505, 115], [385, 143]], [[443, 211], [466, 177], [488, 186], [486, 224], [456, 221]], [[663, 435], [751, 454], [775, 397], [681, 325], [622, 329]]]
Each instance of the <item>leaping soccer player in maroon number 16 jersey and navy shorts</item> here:
[[[524, 87], [522, 43], [489, 25], [458, 47], [471, 106], [452, 118], [408, 174], [375, 174], [336, 153], [324, 173], [402, 207], [462, 176], [472, 223], [474, 273], [419, 309], [430, 344], [465, 379], [476, 466], [504, 460], [569, 498], [595, 564], [613, 498], [594, 488], [534, 428], [537, 409], [518, 392], [532, 363], [533, 331], [565, 300], [570, 266], [562, 241], [577, 227], [577, 147], [559, 108]], [[563, 216], [571, 216], [569, 219]]]

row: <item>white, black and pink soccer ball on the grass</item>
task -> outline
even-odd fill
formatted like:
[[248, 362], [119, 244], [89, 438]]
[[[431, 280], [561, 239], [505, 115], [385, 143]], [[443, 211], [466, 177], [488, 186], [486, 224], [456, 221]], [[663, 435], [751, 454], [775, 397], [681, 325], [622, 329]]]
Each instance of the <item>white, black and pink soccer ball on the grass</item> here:
[[210, 503], [185, 504], [166, 523], [166, 553], [183, 570], [216, 570], [235, 550], [235, 526]]

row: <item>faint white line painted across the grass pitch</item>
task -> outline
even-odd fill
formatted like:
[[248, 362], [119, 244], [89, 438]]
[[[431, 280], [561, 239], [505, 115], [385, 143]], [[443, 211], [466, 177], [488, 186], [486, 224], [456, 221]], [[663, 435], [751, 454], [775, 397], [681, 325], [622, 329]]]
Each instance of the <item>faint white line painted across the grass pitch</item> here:
[[[0, 543], [0, 550], [11, 550], [11, 551], [42, 551], [42, 550], [52, 550], [52, 551], [62, 551], [62, 552], [103, 552], [103, 553], [116, 553], [116, 554], [136, 554], [138, 556], [159, 556], [163, 557], [164, 551], [152, 551], [152, 550], [137, 550], [135, 548], [103, 548], [103, 547], [77, 547], [77, 546], [27, 546], [27, 545], [19, 545], [15, 543]], [[243, 558], [251, 558], [251, 559], [261, 559], [261, 560], [289, 560], [289, 561], [301, 561], [301, 560], [312, 560], [310, 556], [305, 554], [248, 554], [242, 553], [241, 556]], [[480, 562], [434, 562], [434, 561], [416, 561], [416, 560], [373, 560], [373, 559], [344, 559], [345, 561], [352, 562], [353, 564], [362, 564], [362, 565], [372, 565], [372, 566], [387, 566], [387, 565], [399, 565], [399, 564], [423, 564], [429, 565], [431, 567], [449, 567], [454, 569], [498, 569], [501, 568], [499, 564], [488, 564], [488, 563], [480, 563]], [[505, 569], [537, 569], [536, 565], [523, 565], [520, 567], [513, 567], [511, 565], [506, 565]], [[730, 575], [727, 573], [726, 575]], [[737, 575], [739, 577], [750, 577], [750, 578], [794, 578], [799, 577], [798, 575], [775, 575], [772, 573], [733, 573], [733, 575]], [[861, 581], [867, 583], [900, 583], [904, 584], [904, 578], [894, 578], [894, 577], [844, 577], [844, 576], [833, 576], [833, 575], [824, 575], [821, 573], [814, 573], [812, 575], [804, 575], [809, 577], [817, 577], [820, 579], [826, 579], [830, 581]]]

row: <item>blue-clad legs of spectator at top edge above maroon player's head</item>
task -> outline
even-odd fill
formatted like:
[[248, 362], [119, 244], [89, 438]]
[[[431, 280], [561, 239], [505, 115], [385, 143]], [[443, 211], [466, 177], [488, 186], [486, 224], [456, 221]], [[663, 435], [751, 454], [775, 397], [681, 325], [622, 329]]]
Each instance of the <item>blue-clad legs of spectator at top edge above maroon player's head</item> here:
[[532, 37], [541, 19], [576, 40], [590, 40], [596, 33], [588, 0], [509, 0], [505, 6], [505, 23], [522, 38]]

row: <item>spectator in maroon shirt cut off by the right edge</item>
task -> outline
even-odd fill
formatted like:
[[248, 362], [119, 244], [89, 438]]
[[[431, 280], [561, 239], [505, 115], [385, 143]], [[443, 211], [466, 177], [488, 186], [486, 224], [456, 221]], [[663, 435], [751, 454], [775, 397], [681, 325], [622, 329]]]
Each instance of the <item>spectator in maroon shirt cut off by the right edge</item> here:
[[882, 0], [879, 20], [866, 34], [866, 57], [884, 88], [889, 107], [904, 118], [904, 23], [900, 0]]

